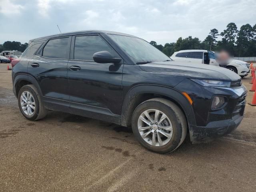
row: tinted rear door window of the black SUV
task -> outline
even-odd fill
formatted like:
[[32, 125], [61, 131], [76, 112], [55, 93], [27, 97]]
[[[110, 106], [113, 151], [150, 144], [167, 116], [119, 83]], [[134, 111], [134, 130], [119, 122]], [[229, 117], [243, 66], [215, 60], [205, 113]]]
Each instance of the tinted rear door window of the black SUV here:
[[43, 56], [48, 58], [66, 59], [68, 52], [68, 37], [48, 41], [43, 50]]

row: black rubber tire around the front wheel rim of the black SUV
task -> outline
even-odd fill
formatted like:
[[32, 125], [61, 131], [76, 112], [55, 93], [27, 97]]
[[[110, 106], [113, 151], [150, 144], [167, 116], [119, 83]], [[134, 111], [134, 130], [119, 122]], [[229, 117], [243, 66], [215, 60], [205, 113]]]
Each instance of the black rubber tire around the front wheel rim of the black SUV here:
[[[138, 118], [142, 112], [148, 109], [157, 109], [171, 120], [173, 127], [173, 134], [171, 140], [165, 144], [164, 146], [152, 146], [148, 144], [144, 139], [140, 136], [140, 132], [138, 130]], [[173, 102], [163, 98], [154, 98], [147, 100], [141, 103], [135, 110], [132, 115], [132, 131], [136, 139], [140, 142], [142, 146], [147, 148], [148, 150], [156, 153], [170, 153], [176, 150], [184, 141], [187, 134], [187, 121], [186, 116], [182, 112], [182, 110]]]

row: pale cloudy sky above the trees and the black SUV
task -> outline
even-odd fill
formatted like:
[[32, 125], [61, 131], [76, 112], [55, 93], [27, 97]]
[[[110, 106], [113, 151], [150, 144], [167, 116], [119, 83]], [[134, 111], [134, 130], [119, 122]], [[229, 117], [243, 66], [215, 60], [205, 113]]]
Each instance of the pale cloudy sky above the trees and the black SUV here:
[[256, 0], [0, 0], [0, 44], [77, 30], [111, 30], [158, 44], [200, 40], [256, 23]]

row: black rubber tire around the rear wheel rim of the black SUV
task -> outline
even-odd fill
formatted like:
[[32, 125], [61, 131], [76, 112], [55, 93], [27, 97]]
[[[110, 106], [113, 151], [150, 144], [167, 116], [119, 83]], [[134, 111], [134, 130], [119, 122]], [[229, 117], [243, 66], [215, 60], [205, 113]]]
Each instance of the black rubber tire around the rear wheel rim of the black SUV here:
[[[34, 109], [34, 114], [32, 114], [31, 116], [25, 114], [25, 112], [22, 110], [22, 107], [21, 107], [20, 97], [24, 91], [30, 92], [34, 97], [35, 109]], [[20, 89], [18, 94], [18, 104], [19, 104], [20, 112], [28, 120], [32, 120], [32, 121], [40, 120], [47, 115], [48, 110], [45, 108], [44, 104], [42, 103], [41, 96], [38, 94], [38, 91], [34, 85], [24, 85]]]

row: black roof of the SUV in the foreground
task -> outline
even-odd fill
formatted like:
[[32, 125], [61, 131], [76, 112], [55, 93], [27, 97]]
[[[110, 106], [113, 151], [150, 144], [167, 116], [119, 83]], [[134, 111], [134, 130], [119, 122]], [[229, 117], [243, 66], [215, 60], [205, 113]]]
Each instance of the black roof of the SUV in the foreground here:
[[[44, 37], [32, 39], [30, 41], [32, 41], [32, 42], [40, 42], [40, 41], [45, 41], [45, 40], [47, 40], [49, 38], [55, 38], [55, 37], [70, 36], [70, 35], [80, 35], [80, 34], [99, 34], [99, 33], [106, 33], [106, 34], [115, 34], [115, 35], [123, 35], [123, 36], [136, 37], [136, 36], [132, 36], [132, 35], [129, 35], [129, 34], [119, 33], [119, 32], [114, 32], [114, 31], [85, 30], [85, 31], [76, 31], [76, 32], [68, 32], [68, 33], [60, 33], [60, 34], [55, 34], [55, 35], [50, 35], [50, 36], [44, 36]], [[138, 37], [136, 37], [136, 38], [138, 38]]]

